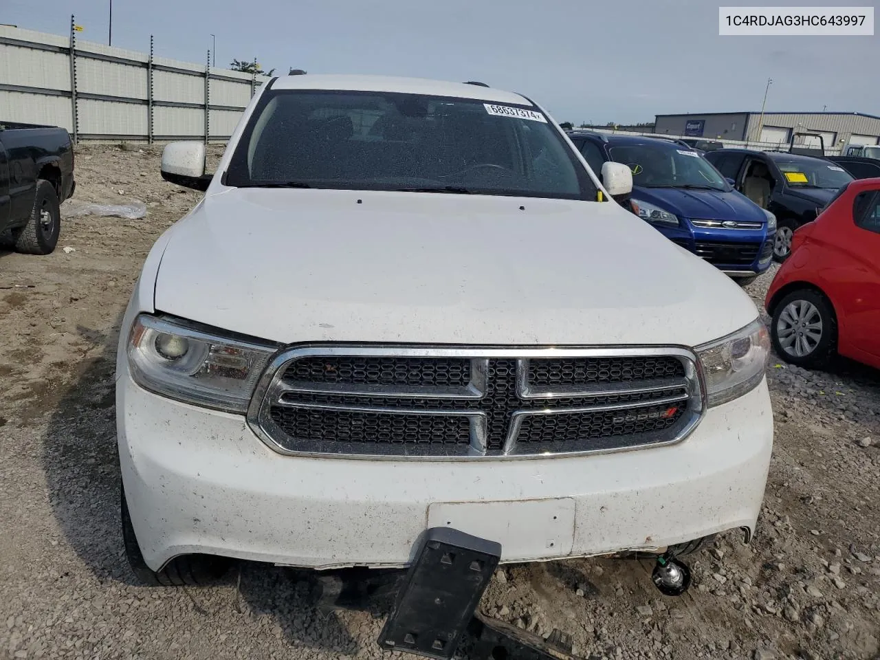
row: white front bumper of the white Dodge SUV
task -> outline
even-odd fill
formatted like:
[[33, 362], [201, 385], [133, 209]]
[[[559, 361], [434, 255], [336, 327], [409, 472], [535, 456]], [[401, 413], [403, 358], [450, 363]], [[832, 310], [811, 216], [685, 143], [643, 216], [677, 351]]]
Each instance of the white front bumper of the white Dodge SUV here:
[[[502, 561], [751, 532], [773, 445], [766, 381], [709, 409], [679, 444], [448, 462], [282, 456], [243, 416], [146, 392], [127, 370], [116, 395], [128, 508], [154, 570], [188, 553], [310, 568], [403, 566], [438, 506], [444, 518], [458, 511], [452, 526], [502, 542]], [[550, 512], [562, 521], [555, 532]], [[546, 539], [536, 543], [536, 534]]]

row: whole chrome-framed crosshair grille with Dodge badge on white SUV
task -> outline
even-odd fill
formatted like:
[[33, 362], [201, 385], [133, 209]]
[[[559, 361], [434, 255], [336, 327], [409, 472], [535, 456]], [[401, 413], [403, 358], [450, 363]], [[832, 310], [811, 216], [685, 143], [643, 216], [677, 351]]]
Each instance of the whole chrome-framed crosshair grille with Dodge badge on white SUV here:
[[275, 359], [248, 422], [282, 453], [502, 458], [670, 444], [702, 401], [678, 347], [314, 346]]

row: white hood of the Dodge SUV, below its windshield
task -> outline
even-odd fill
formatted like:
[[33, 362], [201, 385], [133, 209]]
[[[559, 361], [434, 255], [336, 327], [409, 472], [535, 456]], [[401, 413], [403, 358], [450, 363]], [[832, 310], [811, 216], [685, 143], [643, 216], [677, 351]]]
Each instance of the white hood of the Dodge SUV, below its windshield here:
[[614, 203], [238, 188], [170, 233], [158, 311], [283, 343], [693, 346], [757, 316]]

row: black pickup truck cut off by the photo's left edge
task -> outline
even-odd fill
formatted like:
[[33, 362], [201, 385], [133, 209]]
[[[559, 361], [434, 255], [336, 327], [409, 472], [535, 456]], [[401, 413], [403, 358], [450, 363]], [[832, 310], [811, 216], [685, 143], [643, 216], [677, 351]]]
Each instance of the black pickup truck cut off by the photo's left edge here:
[[0, 248], [55, 250], [58, 207], [75, 187], [73, 145], [64, 128], [0, 121]]

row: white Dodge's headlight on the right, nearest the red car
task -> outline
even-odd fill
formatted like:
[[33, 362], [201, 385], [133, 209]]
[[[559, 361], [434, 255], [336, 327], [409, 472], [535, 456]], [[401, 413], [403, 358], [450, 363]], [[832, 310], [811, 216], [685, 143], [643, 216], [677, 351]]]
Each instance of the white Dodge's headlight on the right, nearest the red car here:
[[719, 406], [743, 396], [764, 378], [770, 335], [757, 319], [742, 330], [696, 350], [706, 375], [708, 406]]

